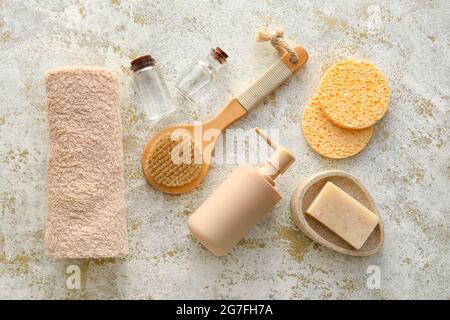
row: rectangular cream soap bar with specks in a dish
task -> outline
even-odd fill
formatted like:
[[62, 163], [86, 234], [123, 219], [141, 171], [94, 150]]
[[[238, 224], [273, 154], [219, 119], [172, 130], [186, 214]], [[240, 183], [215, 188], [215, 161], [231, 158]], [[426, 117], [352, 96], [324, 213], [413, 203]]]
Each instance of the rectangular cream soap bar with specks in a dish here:
[[327, 182], [306, 213], [360, 249], [380, 219], [332, 182]]

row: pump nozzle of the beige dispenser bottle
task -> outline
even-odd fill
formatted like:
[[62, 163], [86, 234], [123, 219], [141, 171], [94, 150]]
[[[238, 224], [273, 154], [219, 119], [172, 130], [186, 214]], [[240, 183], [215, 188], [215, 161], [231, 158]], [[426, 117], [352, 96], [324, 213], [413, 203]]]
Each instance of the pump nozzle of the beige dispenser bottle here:
[[275, 150], [275, 152], [267, 159], [266, 164], [259, 168], [259, 172], [273, 183], [278, 175], [283, 174], [287, 168], [295, 161], [294, 156], [283, 146], [273, 142], [266, 133], [259, 128], [255, 128], [255, 132], [260, 135], [266, 143]]

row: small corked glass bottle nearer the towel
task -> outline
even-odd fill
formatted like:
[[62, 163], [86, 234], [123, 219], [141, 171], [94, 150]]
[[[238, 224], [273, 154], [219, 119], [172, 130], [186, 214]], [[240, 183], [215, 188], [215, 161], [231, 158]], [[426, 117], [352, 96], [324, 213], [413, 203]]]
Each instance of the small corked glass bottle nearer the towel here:
[[157, 120], [175, 110], [163, 75], [151, 55], [131, 61], [131, 70], [144, 112], [149, 120]]

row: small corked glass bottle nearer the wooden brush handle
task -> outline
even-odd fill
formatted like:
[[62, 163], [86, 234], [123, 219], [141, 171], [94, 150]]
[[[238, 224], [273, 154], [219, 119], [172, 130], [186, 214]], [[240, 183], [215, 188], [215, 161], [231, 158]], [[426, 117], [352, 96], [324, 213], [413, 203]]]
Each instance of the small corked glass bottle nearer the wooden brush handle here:
[[227, 61], [228, 55], [219, 47], [211, 49], [205, 60], [197, 61], [176, 85], [177, 90], [187, 100], [194, 102], [193, 96], [209, 82], [217, 78], [217, 72]]

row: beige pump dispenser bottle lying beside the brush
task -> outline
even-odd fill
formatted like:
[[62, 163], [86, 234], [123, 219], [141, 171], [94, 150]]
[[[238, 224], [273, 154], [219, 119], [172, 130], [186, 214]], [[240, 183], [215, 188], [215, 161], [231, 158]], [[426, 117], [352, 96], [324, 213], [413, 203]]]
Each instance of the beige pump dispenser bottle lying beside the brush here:
[[188, 221], [194, 237], [216, 256], [226, 255], [281, 199], [274, 180], [295, 160], [286, 148], [255, 131], [275, 152], [262, 167], [241, 164]]

